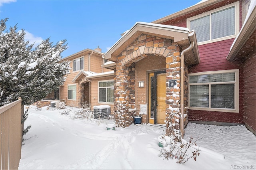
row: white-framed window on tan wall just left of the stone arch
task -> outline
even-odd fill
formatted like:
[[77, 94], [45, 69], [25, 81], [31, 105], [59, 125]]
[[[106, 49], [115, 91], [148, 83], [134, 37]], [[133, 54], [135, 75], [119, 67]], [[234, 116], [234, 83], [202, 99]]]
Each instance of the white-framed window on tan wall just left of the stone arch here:
[[99, 102], [114, 103], [114, 81], [99, 81]]

